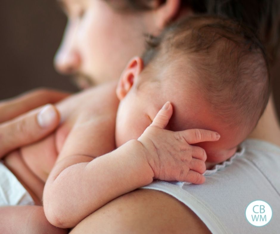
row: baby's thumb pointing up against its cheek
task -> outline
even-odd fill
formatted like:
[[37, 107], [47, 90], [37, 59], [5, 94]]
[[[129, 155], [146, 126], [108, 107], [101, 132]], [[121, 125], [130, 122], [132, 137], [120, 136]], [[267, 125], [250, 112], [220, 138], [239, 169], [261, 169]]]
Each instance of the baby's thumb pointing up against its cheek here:
[[164, 129], [172, 116], [172, 105], [166, 102], [164, 106], [158, 111], [150, 126]]

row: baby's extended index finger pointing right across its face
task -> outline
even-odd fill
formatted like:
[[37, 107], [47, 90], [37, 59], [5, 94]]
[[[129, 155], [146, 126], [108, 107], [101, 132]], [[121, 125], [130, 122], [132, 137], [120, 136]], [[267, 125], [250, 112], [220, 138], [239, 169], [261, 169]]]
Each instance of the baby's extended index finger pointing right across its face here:
[[180, 134], [188, 144], [195, 144], [203, 141], [217, 141], [220, 139], [219, 133], [205, 129], [188, 129], [181, 131]]

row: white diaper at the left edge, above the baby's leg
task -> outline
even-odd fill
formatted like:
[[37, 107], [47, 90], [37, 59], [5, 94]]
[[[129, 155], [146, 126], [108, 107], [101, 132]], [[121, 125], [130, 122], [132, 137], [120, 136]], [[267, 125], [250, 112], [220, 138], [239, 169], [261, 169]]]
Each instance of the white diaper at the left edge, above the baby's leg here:
[[0, 206], [4, 205], [34, 205], [34, 201], [14, 174], [0, 161]]

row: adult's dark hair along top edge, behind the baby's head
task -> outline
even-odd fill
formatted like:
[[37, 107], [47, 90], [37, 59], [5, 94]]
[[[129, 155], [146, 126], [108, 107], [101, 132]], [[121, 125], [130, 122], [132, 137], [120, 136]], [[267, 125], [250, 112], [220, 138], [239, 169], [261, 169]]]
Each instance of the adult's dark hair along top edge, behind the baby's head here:
[[[119, 10], [148, 10], [154, 0], [105, 0]], [[165, 0], [160, 1], [164, 4]], [[190, 7], [195, 13], [231, 18], [251, 28], [265, 45], [269, 62], [273, 63], [280, 48], [279, 0], [181, 0], [181, 9]]]

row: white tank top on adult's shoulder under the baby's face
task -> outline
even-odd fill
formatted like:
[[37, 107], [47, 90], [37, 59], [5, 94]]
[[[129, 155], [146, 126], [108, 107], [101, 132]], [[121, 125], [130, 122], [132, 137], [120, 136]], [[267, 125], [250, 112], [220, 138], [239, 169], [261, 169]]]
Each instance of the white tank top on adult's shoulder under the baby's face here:
[[[230, 159], [206, 170], [204, 184], [155, 180], [141, 188], [177, 198], [214, 234], [280, 233], [280, 148], [254, 139], [245, 140], [239, 148]], [[265, 201], [272, 209], [270, 222], [261, 227], [249, 223], [245, 215], [255, 200]]]

